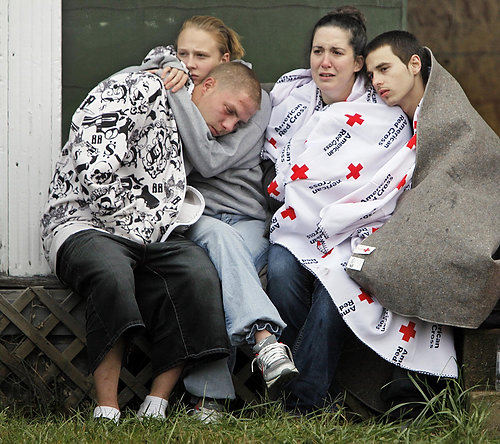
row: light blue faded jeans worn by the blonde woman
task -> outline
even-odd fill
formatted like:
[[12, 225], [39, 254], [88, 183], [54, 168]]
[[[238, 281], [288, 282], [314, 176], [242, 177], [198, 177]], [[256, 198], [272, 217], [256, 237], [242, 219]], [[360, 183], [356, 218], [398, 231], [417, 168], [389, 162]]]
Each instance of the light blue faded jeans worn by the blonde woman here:
[[[262, 289], [257, 270], [267, 263], [264, 221], [236, 214], [201, 216], [186, 237], [212, 260], [222, 285], [226, 329], [231, 345], [255, 343], [255, 332], [267, 329], [277, 337], [286, 324]], [[227, 359], [200, 365], [185, 378], [195, 396], [234, 399]]]

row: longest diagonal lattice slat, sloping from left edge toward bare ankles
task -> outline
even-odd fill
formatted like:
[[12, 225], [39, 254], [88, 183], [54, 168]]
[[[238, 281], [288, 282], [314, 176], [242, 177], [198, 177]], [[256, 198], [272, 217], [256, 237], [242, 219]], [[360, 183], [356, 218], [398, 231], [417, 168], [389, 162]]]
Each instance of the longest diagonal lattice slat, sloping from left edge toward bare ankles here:
[[18, 313], [12, 305], [0, 295], [0, 310], [9, 317], [9, 319], [24, 332], [24, 334], [34, 342], [49, 359], [69, 376], [75, 384], [82, 390], [88, 389], [88, 381], [82, 373], [71, 363], [61, 359], [61, 353], [57, 350], [38, 330], [36, 330], [24, 317]]

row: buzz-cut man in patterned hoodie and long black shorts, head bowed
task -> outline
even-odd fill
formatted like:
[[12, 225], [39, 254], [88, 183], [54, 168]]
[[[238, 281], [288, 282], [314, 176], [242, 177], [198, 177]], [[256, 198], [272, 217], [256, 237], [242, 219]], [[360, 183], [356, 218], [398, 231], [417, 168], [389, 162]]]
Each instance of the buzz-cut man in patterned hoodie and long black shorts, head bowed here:
[[[208, 126], [229, 133], [255, 114], [261, 90], [250, 69], [226, 63], [208, 80], [193, 92]], [[96, 418], [118, 421], [130, 335], [146, 330], [152, 343], [154, 379], [140, 417], [165, 417], [186, 364], [228, 354], [217, 272], [179, 230], [204, 201], [186, 186], [175, 118], [157, 76], [111, 76], [75, 112], [49, 188], [43, 247], [59, 279], [87, 301]]]

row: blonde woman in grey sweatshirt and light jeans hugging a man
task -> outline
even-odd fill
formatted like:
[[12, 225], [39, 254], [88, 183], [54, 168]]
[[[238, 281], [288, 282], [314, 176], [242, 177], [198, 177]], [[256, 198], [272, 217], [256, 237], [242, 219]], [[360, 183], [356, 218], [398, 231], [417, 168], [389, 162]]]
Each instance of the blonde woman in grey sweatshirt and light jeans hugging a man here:
[[[187, 231], [187, 237], [207, 251], [219, 273], [231, 344], [254, 345], [257, 365], [274, 396], [297, 370], [288, 347], [277, 342], [285, 324], [258, 277], [268, 249], [260, 151], [271, 112], [269, 97], [263, 91], [254, 117], [226, 134], [223, 118], [237, 119], [234, 109], [223, 106], [212, 122], [205, 123], [188, 94], [191, 82], [203, 83], [215, 66], [243, 55], [238, 35], [220, 19], [195, 16], [183, 24], [175, 47], [153, 49], [140, 69], [163, 68], [161, 75], [165, 87], [171, 88], [169, 99], [185, 159], [193, 167], [188, 182], [206, 201], [203, 216]], [[183, 87], [186, 81], [188, 88]], [[226, 360], [195, 369], [184, 383], [191, 394], [201, 398], [194, 412], [202, 420], [218, 416], [215, 400], [235, 397]]]

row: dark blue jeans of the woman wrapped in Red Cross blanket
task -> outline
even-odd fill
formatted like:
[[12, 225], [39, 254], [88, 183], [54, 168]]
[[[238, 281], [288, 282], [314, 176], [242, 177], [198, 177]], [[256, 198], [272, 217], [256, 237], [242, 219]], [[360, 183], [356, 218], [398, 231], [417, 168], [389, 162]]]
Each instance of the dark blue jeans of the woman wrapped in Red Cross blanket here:
[[287, 407], [321, 408], [329, 401], [348, 327], [321, 282], [281, 245], [269, 248], [267, 292], [287, 323], [281, 340], [300, 372], [286, 387]]

